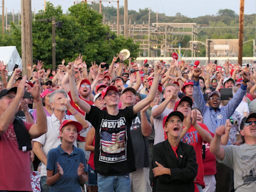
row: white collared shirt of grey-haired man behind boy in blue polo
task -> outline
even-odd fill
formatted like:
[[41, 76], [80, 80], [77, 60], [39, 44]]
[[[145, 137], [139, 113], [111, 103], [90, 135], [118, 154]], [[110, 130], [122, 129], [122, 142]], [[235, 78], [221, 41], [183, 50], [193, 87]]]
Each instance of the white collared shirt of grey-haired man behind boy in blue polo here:
[[[76, 121], [73, 115], [65, 114], [62, 121], [66, 119]], [[58, 138], [60, 124], [60, 121], [57, 119], [54, 113], [51, 116], [47, 116], [47, 132], [33, 139], [33, 141], [37, 141], [42, 144], [42, 151], [44, 152], [45, 156], [47, 156], [51, 148], [55, 148], [61, 144], [60, 138]], [[76, 146], [76, 142], [74, 145]], [[41, 165], [40, 176], [46, 176], [46, 165], [44, 163]]]

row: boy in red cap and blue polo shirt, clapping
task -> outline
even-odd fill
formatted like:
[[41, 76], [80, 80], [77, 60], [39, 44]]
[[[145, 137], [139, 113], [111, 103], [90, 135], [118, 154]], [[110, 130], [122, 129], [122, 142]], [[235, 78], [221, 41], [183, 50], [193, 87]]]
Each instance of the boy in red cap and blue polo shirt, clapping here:
[[61, 144], [50, 149], [47, 157], [46, 183], [51, 186], [50, 191], [81, 191], [80, 183], [86, 180], [85, 156], [82, 149], [73, 146], [81, 129], [82, 125], [73, 120], [61, 123]]

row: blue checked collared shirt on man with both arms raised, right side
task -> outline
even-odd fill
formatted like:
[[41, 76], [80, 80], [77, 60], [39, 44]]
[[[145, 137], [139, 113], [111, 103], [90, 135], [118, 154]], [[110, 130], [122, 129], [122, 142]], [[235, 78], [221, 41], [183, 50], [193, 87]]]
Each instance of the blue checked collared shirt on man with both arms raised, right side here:
[[229, 100], [227, 105], [217, 108], [215, 111], [212, 107], [205, 105], [199, 81], [194, 81], [194, 107], [197, 107], [202, 111], [203, 123], [206, 124], [210, 132], [215, 133], [215, 129], [218, 126], [225, 124], [226, 119], [233, 114], [234, 110], [241, 102], [246, 92], [246, 87], [247, 86], [241, 84], [240, 88], [237, 90], [234, 97]]

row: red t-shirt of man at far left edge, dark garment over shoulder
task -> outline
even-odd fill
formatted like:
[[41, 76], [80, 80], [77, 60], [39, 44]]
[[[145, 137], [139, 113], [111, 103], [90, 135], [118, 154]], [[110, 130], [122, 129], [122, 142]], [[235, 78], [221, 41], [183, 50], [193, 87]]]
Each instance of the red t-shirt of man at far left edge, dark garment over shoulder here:
[[[27, 130], [33, 123], [24, 122]], [[13, 124], [0, 135], [0, 190], [32, 191], [30, 153], [18, 149]]]

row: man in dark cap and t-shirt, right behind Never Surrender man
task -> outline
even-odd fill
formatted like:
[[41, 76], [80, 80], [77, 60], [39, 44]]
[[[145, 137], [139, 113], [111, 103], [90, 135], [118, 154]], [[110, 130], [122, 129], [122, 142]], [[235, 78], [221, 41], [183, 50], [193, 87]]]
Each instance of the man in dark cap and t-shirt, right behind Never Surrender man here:
[[[136, 90], [131, 87], [127, 87], [122, 91], [120, 96], [122, 109], [135, 104], [135, 93]], [[147, 136], [151, 134], [152, 127], [146, 109], [147, 107], [137, 113], [130, 126], [130, 136], [136, 166], [136, 171], [130, 173], [131, 191], [151, 191]]]

